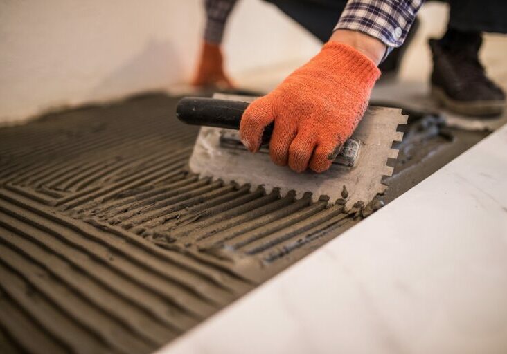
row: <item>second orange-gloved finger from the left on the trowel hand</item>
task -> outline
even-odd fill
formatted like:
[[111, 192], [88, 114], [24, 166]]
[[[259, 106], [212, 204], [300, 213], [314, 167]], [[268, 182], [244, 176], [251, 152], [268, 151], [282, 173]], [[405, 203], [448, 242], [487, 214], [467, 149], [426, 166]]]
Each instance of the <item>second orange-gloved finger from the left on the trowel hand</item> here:
[[277, 117], [271, 141], [269, 141], [269, 156], [278, 166], [285, 166], [289, 160], [289, 147], [296, 138], [296, 126], [290, 121]]

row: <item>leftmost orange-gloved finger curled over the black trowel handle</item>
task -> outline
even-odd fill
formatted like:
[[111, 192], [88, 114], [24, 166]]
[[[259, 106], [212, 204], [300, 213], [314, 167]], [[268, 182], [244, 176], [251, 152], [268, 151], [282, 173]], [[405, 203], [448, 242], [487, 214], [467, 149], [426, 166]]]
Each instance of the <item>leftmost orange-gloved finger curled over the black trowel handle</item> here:
[[264, 128], [274, 119], [272, 105], [265, 98], [253, 101], [241, 117], [241, 142], [251, 152], [258, 151]]

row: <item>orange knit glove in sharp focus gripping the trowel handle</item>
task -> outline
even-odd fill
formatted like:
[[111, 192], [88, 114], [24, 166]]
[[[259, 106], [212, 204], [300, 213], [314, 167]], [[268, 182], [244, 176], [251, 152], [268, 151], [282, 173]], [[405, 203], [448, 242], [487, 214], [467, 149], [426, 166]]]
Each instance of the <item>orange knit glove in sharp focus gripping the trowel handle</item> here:
[[248, 106], [241, 119], [241, 140], [250, 151], [258, 151], [264, 127], [274, 121], [269, 154], [276, 165], [288, 162], [298, 172], [308, 165], [326, 171], [362, 118], [379, 75], [377, 66], [359, 51], [328, 42], [274, 91]]

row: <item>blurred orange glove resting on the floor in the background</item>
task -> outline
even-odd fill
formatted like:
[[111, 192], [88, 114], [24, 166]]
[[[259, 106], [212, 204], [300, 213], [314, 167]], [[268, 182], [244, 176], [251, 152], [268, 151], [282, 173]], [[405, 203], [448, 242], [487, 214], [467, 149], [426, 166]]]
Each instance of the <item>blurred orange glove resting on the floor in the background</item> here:
[[192, 85], [220, 89], [234, 88], [231, 80], [224, 73], [224, 57], [218, 44], [203, 42]]

